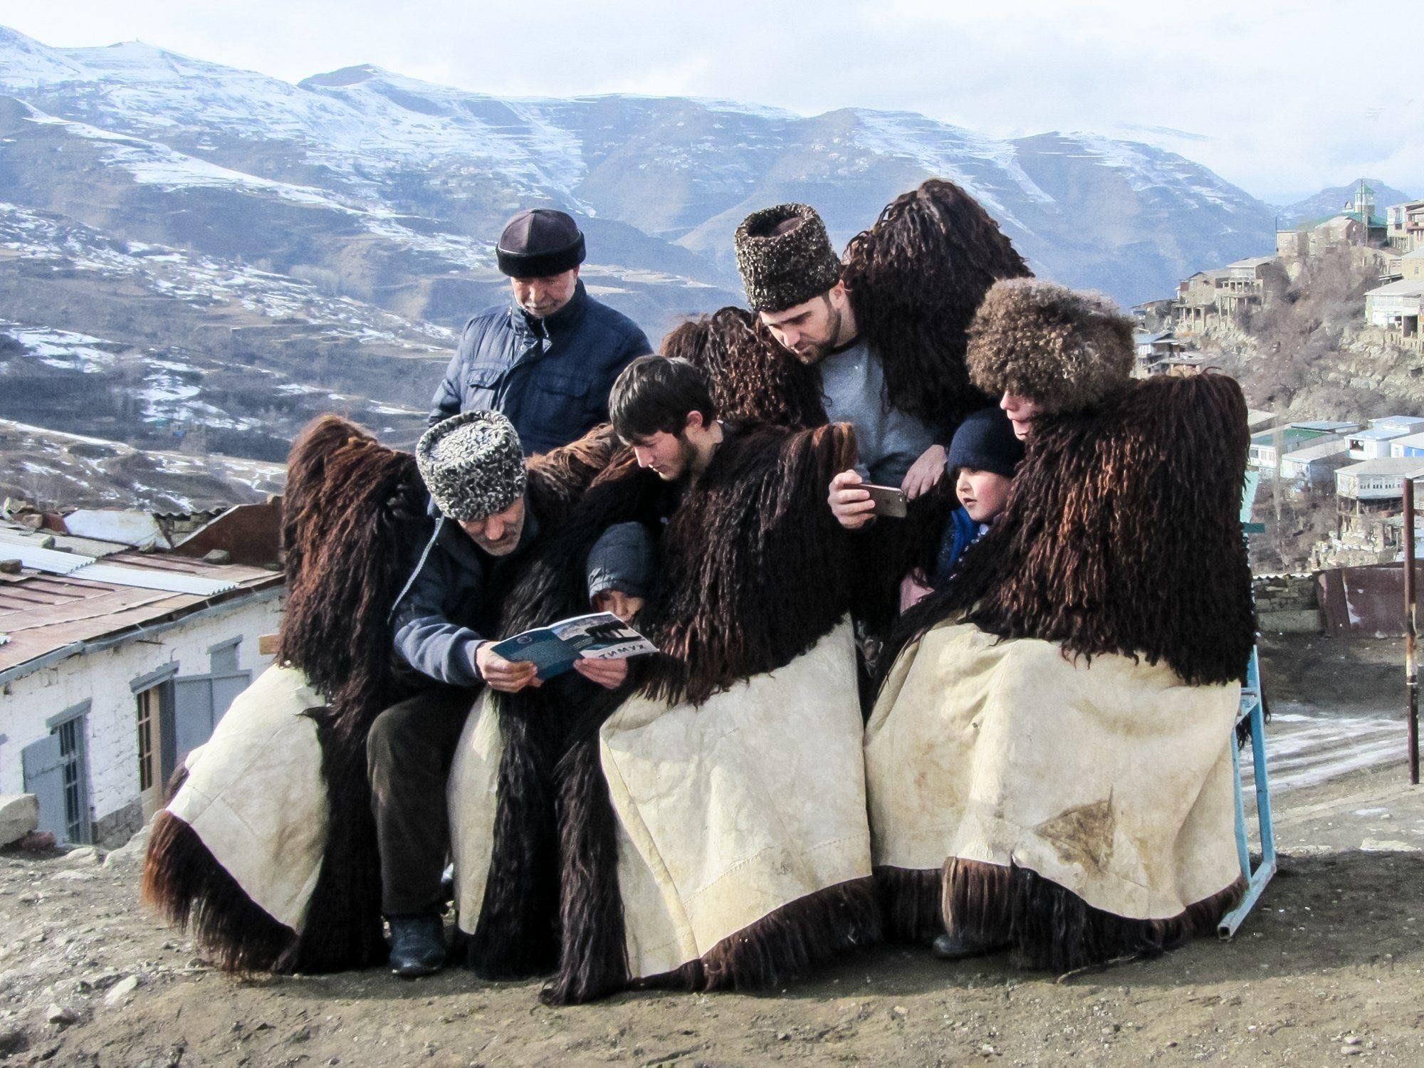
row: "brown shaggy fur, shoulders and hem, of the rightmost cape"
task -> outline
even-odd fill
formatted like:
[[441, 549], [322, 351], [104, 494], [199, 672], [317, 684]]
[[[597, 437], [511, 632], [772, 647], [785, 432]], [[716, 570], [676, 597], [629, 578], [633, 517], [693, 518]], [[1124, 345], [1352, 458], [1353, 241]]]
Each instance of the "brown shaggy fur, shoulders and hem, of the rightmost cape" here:
[[[906, 612], [886, 665], [936, 624], [963, 619], [1089, 662], [1165, 664], [1190, 686], [1239, 682], [1256, 632], [1246, 449], [1245, 399], [1219, 375], [1134, 382], [1089, 412], [1037, 419], [1004, 513], [951, 581]], [[1128, 920], [1027, 867], [950, 857], [943, 870], [876, 874], [893, 937], [948, 926], [1058, 971], [1178, 946], [1240, 893], [1233, 883], [1178, 917]]]

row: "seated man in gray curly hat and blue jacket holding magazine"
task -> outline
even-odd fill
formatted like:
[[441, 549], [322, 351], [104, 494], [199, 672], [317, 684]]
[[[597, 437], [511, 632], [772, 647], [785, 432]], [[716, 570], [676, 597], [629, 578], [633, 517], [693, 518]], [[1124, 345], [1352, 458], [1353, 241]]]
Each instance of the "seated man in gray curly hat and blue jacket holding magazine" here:
[[[382, 712], [366, 742], [390, 967], [406, 977], [444, 964], [446, 779], [476, 688], [541, 685], [533, 664], [504, 659], [493, 651], [497, 637], [487, 637], [497, 635], [506, 591], [540, 537], [525, 507], [518, 434], [497, 412], [466, 412], [427, 430], [416, 461], [440, 518], [396, 598], [393, 624], [396, 654], [427, 685]], [[617, 686], [628, 664], [574, 668]]]

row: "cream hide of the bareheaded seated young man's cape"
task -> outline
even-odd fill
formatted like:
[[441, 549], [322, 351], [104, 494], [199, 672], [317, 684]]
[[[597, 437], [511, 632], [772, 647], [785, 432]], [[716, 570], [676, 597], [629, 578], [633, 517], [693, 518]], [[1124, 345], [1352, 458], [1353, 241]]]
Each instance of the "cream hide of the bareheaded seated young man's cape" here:
[[[870, 874], [849, 622], [701, 706], [634, 698], [600, 735], [632, 977], [672, 971], [785, 904]], [[450, 775], [467, 931], [484, 900], [498, 755], [481, 702]]]

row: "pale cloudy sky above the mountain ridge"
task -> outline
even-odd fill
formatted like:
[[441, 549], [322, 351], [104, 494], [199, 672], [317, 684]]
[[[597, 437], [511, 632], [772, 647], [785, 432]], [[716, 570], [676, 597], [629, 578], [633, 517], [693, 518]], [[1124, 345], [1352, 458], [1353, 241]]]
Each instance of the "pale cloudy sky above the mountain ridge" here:
[[44, 44], [142, 40], [288, 81], [372, 63], [493, 94], [1091, 131], [1171, 148], [1276, 204], [1360, 175], [1424, 197], [1424, 78], [1405, 58], [1421, 13], [1418, 0], [0, 0], [0, 24]]

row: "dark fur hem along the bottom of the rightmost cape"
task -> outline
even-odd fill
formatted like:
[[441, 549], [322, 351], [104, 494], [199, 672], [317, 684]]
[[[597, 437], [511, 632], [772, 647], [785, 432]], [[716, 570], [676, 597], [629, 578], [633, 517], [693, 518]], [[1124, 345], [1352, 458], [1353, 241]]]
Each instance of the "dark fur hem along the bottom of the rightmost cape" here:
[[1010, 946], [1021, 968], [1058, 974], [1121, 958], [1155, 957], [1212, 934], [1240, 903], [1245, 881], [1189, 904], [1165, 920], [1129, 920], [1094, 909], [1027, 867], [950, 857], [944, 863], [944, 920], [950, 934]]

